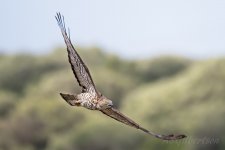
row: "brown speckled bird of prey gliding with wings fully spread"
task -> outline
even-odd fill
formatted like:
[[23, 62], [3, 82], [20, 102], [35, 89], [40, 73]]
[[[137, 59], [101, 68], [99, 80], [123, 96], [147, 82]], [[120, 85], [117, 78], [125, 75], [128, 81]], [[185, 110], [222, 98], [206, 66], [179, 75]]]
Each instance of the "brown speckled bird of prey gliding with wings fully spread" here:
[[161, 135], [151, 132], [141, 127], [139, 124], [137, 124], [136, 122], [134, 122], [133, 120], [131, 120], [130, 118], [119, 112], [116, 108], [114, 108], [112, 101], [106, 98], [96, 89], [87, 66], [85, 65], [85, 63], [83, 62], [83, 60], [78, 55], [77, 51], [72, 45], [70, 36], [65, 28], [64, 17], [60, 13], [57, 13], [55, 18], [61, 29], [65, 44], [67, 46], [68, 58], [72, 71], [77, 79], [77, 82], [82, 88], [82, 92], [80, 94], [60, 93], [62, 98], [68, 104], [70, 104], [71, 106], [85, 107], [90, 110], [99, 110], [103, 114], [119, 122], [122, 122], [136, 129], [142, 130], [145, 133], [162, 140], [178, 140], [186, 137], [185, 135], [174, 135], [174, 134]]

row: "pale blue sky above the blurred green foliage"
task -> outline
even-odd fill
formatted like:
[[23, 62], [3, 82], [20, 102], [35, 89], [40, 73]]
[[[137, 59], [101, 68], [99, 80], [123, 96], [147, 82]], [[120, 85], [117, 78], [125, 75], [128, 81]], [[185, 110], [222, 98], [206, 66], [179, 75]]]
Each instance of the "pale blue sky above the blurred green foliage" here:
[[58, 11], [75, 47], [127, 58], [225, 56], [225, 0], [1, 0], [0, 53], [65, 46]]

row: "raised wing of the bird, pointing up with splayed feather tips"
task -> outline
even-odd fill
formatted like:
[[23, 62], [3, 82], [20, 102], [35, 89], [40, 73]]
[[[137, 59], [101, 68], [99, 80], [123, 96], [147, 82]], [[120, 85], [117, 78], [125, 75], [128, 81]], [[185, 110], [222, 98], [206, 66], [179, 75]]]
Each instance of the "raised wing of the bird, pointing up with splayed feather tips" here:
[[71, 65], [71, 68], [73, 70], [73, 73], [79, 83], [79, 85], [82, 87], [83, 92], [92, 92], [97, 93], [95, 89], [94, 82], [91, 78], [91, 74], [87, 68], [87, 66], [84, 64], [83, 60], [78, 55], [77, 51], [72, 45], [72, 42], [70, 40], [70, 36], [67, 34], [66, 28], [65, 28], [65, 22], [64, 17], [57, 13], [55, 16], [58, 25], [61, 29], [64, 41], [67, 46], [67, 52], [68, 52], [68, 58]]

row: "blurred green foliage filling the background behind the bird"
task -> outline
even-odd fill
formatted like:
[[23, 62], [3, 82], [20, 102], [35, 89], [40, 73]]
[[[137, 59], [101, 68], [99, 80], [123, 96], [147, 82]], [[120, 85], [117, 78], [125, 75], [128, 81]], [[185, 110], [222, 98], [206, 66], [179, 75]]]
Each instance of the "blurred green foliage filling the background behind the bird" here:
[[164, 56], [125, 60], [78, 48], [99, 91], [146, 128], [184, 133], [160, 141], [104, 116], [70, 107], [59, 92], [79, 93], [65, 49], [0, 55], [0, 150], [224, 149], [225, 59]]

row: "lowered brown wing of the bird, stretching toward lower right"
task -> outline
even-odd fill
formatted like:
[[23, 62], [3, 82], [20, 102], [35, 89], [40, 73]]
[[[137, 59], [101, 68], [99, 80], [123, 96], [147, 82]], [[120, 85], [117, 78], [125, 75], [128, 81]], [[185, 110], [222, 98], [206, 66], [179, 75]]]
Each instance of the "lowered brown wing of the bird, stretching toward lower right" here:
[[182, 139], [182, 138], [186, 137], [185, 135], [173, 135], [173, 134], [161, 135], [161, 134], [153, 133], [145, 128], [142, 128], [136, 122], [134, 122], [133, 120], [131, 120], [130, 118], [128, 118], [127, 116], [125, 116], [124, 114], [122, 114], [121, 112], [116, 110], [115, 108], [104, 109], [104, 110], [101, 110], [101, 112], [119, 122], [122, 122], [128, 126], [136, 128], [136, 129], [140, 129], [140, 130], [144, 131], [145, 133], [150, 134], [150, 135], [152, 135], [156, 138], [162, 139], [162, 140], [178, 140], [178, 139]]

